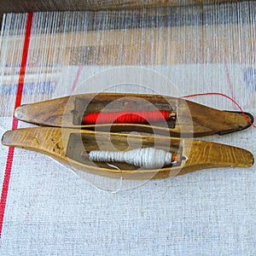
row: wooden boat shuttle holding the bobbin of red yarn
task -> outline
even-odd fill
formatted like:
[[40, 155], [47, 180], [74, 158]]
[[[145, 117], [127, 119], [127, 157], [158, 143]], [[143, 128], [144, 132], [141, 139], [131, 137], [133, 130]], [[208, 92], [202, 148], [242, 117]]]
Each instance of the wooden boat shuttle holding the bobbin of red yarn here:
[[[166, 111], [168, 119], [149, 123], [88, 124], [84, 116], [92, 113], [119, 113], [128, 111]], [[246, 113], [253, 123], [253, 116]], [[143, 131], [172, 137], [202, 137], [207, 135], [241, 131], [250, 126], [240, 112], [228, 112], [189, 102], [171, 96], [136, 95], [119, 93], [98, 93], [66, 96], [22, 105], [15, 111], [15, 117], [37, 125], [67, 127], [96, 131]]]

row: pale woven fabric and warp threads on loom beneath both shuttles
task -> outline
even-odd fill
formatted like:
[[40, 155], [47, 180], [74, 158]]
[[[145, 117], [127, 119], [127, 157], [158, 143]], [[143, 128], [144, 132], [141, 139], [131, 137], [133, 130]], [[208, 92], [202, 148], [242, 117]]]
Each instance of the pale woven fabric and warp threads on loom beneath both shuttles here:
[[[204, 19], [208, 17], [208, 20], [203, 20], [207, 24], [202, 24], [198, 9], [175, 9], [176, 14], [187, 21], [192, 15], [192, 26], [188, 22], [174, 22], [173, 9], [157, 10], [156, 17], [164, 14], [172, 17], [172, 26], [157, 26], [162, 20], [152, 20], [148, 15], [152, 11], [144, 10], [144, 21], [137, 21], [144, 23], [129, 27], [135, 24], [135, 20], [130, 20], [125, 29], [119, 27], [120, 23], [114, 23], [119, 11], [93, 14], [95, 20], [91, 27], [90, 12], [34, 14], [21, 103], [95, 91], [170, 96], [218, 91], [234, 97], [245, 111], [254, 114], [255, 4], [237, 3], [235, 7], [224, 4], [220, 7], [222, 12], [218, 12], [218, 8], [214, 6], [215, 12], [211, 16], [207, 7]], [[245, 12], [238, 19], [236, 14], [241, 9]], [[226, 18], [229, 22], [223, 24], [223, 20], [218, 19], [227, 13], [234, 16]], [[125, 14], [130, 13], [121, 13], [124, 17]], [[27, 17], [26, 14], [9, 14], [4, 19], [1, 136], [12, 128]], [[132, 19], [135, 18], [134, 15]], [[148, 24], [147, 19], [148, 22], [151, 20], [151, 25], [156, 22], [155, 26], [148, 26], [148, 30], [143, 27]], [[100, 28], [106, 24], [108, 29], [101, 33]], [[115, 32], [115, 26], [121, 33], [119, 38], [113, 39], [110, 36]], [[125, 27], [125, 23], [122, 26]], [[137, 34], [129, 34], [130, 29], [139, 30], [140, 40], [143, 40], [140, 42], [145, 44], [138, 44]], [[94, 30], [101, 37], [96, 37], [93, 42], [99, 47], [92, 48], [87, 43], [95, 37]], [[81, 31], [84, 42], [87, 42], [82, 46]], [[170, 42], [161, 41], [166, 33]], [[241, 34], [247, 37], [240, 38], [240, 48], [235, 49]], [[151, 38], [147, 38], [148, 35]], [[197, 42], [197, 35], [212, 40], [212, 44]], [[123, 44], [118, 44], [119, 40]], [[194, 47], [188, 48], [195, 42]], [[225, 48], [226, 42], [230, 49]], [[208, 48], [201, 51], [201, 45], [206, 44]], [[137, 55], [130, 58], [130, 49]], [[150, 49], [150, 55], [147, 55], [147, 49]], [[218, 52], [212, 52], [214, 49]], [[178, 53], [179, 59], [173, 59]], [[232, 102], [221, 96], [196, 96], [191, 100], [213, 108], [237, 110]], [[22, 122], [18, 125], [27, 126], [32, 125]], [[247, 148], [253, 154], [256, 152], [253, 128], [225, 137], [201, 139]], [[9, 148], [1, 145], [0, 183], [3, 186], [8, 154]], [[4, 205], [0, 253], [254, 255], [255, 188], [255, 166], [204, 170], [146, 183], [120, 183], [119, 180], [74, 173], [68, 166], [43, 154], [15, 148]], [[118, 189], [118, 193], [111, 193]]]

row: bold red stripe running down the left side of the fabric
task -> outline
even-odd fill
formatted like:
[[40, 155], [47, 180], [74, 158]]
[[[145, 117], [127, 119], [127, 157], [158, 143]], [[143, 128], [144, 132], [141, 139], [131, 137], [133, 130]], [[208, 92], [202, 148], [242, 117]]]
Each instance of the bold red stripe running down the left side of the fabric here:
[[[25, 79], [25, 73], [26, 73], [26, 61], [27, 61], [27, 55], [28, 55], [28, 49], [29, 49], [30, 35], [32, 31], [32, 18], [33, 18], [33, 14], [29, 13], [27, 15], [27, 20], [26, 20], [26, 33], [24, 38], [23, 50], [22, 50], [22, 59], [20, 63], [20, 75], [19, 75], [19, 83], [18, 83], [17, 92], [16, 92], [15, 108], [20, 106], [20, 102], [22, 98], [22, 91], [23, 91], [23, 85], [24, 85], [24, 79]], [[18, 119], [13, 118], [12, 130], [17, 129], [17, 127], [18, 127]], [[7, 155], [7, 160], [6, 160], [5, 172], [3, 177], [1, 202], [0, 202], [0, 237], [2, 236], [3, 218], [4, 218], [7, 195], [9, 190], [9, 180], [10, 180], [10, 174], [13, 166], [14, 154], [15, 154], [15, 148], [10, 147]]]

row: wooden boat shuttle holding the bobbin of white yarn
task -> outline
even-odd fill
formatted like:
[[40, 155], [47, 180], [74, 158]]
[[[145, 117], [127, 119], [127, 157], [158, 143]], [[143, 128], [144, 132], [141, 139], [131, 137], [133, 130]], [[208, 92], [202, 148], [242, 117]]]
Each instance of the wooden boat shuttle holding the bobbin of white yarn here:
[[[253, 165], [249, 151], [219, 143], [125, 133], [108, 133], [59, 127], [36, 127], [7, 131], [3, 145], [47, 154], [69, 166], [106, 177], [127, 179], [164, 178], [215, 167]], [[134, 148], [160, 148], [177, 155], [177, 161], [156, 169], [127, 163], [95, 162], [84, 157], [91, 150], [125, 151]]]

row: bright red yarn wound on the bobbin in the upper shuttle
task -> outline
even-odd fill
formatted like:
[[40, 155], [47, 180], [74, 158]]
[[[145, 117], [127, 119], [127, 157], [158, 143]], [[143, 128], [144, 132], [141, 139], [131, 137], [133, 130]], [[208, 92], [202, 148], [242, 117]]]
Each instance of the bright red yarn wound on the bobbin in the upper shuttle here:
[[169, 119], [169, 111], [120, 111], [111, 113], [88, 113], [84, 116], [84, 123], [95, 124], [148, 124], [162, 122]]

